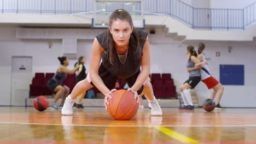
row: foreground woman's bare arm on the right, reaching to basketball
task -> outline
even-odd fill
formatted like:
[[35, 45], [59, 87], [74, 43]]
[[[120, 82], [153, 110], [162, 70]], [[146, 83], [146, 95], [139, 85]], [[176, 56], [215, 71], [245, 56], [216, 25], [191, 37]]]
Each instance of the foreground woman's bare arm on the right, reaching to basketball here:
[[143, 47], [143, 56], [141, 58], [141, 73], [138, 75], [136, 82], [131, 87], [131, 90], [137, 92], [143, 83], [148, 79], [150, 72], [150, 54], [148, 37]]

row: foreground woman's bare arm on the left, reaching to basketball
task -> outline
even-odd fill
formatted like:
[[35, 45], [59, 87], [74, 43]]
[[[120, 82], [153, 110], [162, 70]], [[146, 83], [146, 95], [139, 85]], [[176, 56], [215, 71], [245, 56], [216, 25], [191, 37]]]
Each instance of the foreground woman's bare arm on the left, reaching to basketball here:
[[90, 77], [94, 85], [100, 90], [105, 96], [108, 97], [110, 90], [104, 85], [101, 77], [98, 75], [98, 69], [100, 68], [101, 56], [104, 52], [98, 40], [95, 38], [92, 44], [91, 61], [90, 61]]

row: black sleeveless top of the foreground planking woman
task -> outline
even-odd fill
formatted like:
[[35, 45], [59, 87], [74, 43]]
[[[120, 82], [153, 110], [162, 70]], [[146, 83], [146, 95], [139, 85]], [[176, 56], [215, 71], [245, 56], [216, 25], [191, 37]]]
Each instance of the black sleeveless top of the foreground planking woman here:
[[[98, 43], [103, 47], [104, 51], [107, 52], [106, 46], [106, 32], [103, 32], [96, 36]], [[102, 53], [102, 64], [110, 71], [113, 75], [119, 77], [120, 79], [127, 79], [128, 77], [137, 73], [141, 67], [141, 57], [143, 55], [143, 46], [145, 44], [148, 33], [137, 29], [139, 35], [139, 50], [137, 50], [137, 42], [135, 35], [132, 33], [129, 39], [129, 49], [127, 52], [127, 57], [125, 63], [121, 63], [118, 57], [117, 51], [114, 52], [114, 65], [110, 64], [107, 53]]]

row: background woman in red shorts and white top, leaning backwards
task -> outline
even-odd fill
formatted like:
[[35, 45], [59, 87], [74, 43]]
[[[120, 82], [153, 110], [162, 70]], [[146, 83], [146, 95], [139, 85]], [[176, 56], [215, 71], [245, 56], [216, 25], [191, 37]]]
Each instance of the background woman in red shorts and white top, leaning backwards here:
[[224, 107], [219, 105], [219, 101], [222, 98], [222, 94], [224, 91], [224, 87], [222, 86], [221, 83], [219, 83], [219, 81], [217, 81], [216, 79], [214, 79], [213, 76], [211, 76], [208, 68], [207, 68], [207, 61], [205, 59], [205, 55], [203, 54], [203, 52], [205, 51], [205, 44], [203, 43], [199, 43], [198, 44], [198, 56], [197, 58], [199, 59], [199, 61], [202, 65], [202, 68], [200, 69], [200, 74], [201, 74], [201, 80], [203, 83], [205, 83], [205, 85], [208, 87], [208, 89], [213, 89], [212, 95], [211, 95], [211, 99], [214, 99], [216, 97], [217, 94], [217, 98], [216, 98], [216, 106], [214, 110], [224, 110]]

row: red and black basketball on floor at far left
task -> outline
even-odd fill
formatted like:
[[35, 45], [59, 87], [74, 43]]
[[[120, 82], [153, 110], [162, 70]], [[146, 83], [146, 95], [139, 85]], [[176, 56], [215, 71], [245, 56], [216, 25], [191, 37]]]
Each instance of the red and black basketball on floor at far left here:
[[46, 97], [40, 95], [34, 99], [34, 109], [44, 111], [48, 108], [49, 101]]

